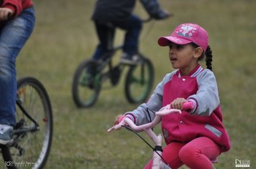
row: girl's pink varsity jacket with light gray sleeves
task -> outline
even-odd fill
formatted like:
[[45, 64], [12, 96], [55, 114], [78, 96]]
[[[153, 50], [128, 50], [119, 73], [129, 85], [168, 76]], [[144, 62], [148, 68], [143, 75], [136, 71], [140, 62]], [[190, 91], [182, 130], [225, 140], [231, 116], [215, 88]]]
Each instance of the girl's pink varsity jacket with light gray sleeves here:
[[166, 74], [148, 102], [125, 115], [136, 125], [145, 124], [155, 117], [150, 110], [160, 110], [178, 97], [193, 102], [194, 108], [162, 117], [165, 143], [186, 143], [196, 137], [209, 137], [221, 147], [222, 152], [228, 151], [230, 140], [222, 124], [216, 78], [211, 70], [203, 69], [200, 64], [188, 76], [181, 75], [179, 70]]

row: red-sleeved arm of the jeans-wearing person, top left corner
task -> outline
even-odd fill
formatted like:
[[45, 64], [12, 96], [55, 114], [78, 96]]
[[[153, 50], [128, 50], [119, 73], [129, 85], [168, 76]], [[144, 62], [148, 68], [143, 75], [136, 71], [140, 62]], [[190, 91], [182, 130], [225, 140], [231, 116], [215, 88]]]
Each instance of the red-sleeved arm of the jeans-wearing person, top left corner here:
[[[18, 16], [20, 13], [22, 13], [22, 1], [17, 1], [17, 0], [4, 0], [3, 4], [1, 5], [1, 9], [4, 9], [4, 11], [6, 11], [6, 9], [9, 9], [9, 11], [12, 11], [11, 13], [9, 13], [9, 17], [16, 17]], [[6, 17], [6, 16], [5, 16]]]

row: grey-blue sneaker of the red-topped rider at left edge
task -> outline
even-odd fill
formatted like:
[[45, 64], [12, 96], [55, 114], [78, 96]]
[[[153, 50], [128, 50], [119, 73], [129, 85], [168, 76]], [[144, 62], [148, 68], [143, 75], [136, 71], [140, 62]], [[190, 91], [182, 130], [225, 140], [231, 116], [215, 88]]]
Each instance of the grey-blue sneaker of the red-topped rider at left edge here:
[[0, 125], [0, 144], [6, 145], [12, 142], [12, 133], [14, 129], [9, 125]]

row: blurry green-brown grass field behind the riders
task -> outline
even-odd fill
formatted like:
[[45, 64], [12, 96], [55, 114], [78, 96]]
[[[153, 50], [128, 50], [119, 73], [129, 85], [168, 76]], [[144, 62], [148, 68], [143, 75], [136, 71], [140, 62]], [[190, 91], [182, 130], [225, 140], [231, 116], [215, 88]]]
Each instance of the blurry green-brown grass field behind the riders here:
[[[92, 0], [34, 0], [35, 31], [17, 59], [18, 77], [33, 76], [45, 84], [54, 114], [54, 136], [45, 168], [143, 168], [151, 151], [131, 132], [106, 129], [118, 114], [133, 110], [124, 97], [123, 81], [101, 92], [90, 109], [78, 109], [71, 97], [73, 73], [90, 58], [97, 39], [90, 19]], [[235, 168], [235, 159], [256, 168], [256, 1], [160, 0], [175, 16], [144, 25], [140, 50], [155, 66], [155, 85], [172, 71], [168, 49], [157, 38], [183, 22], [194, 22], [209, 33], [213, 68], [232, 149], [221, 154], [216, 168]], [[136, 12], [145, 16], [140, 4]], [[123, 32], [117, 32], [116, 44]], [[204, 64], [204, 63], [202, 63]], [[157, 132], [160, 129], [157, 128]]]

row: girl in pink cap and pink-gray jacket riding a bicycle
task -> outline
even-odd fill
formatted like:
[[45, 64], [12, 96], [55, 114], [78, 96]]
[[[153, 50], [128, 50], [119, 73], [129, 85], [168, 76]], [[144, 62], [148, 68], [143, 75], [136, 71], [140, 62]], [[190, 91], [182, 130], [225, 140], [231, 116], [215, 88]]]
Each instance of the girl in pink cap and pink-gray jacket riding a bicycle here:
[[[147, 112], [171, 107], [183, 110], [184, 102], [193, 102], [192, 110], [162, 117], [162, 131], [166, 146], [163, 158], [166, 168], [214, 168], [214, 160], [230, 149], [229, 135], [222, 124], [216, 78], [212, 72], [209, 37], [198, 24], [180, 24], [170, 36], [160, 37], [158, 44], [169, 47], [169, 59], [175, 71], [165, 75], [157, 84], [150, 100], [124, 115], [136, 125], [150, 122], [155, 115]], [[198, 61], [206, 57], [207, 69]], [[150, 160], [145, 168], [152, 168]]]

